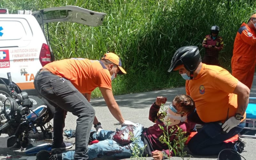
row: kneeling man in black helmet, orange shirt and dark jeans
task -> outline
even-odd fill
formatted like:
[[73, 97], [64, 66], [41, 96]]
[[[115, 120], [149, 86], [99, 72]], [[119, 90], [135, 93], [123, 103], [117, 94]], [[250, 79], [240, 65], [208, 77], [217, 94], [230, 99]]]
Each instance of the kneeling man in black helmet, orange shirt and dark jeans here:
[[216, 155], [223, 149], [244, 150], [243, 140], [225, 140], [241, 132], [245, 125], [250, 89], [219, 66], [206, 65], [196, 46], [179, 48], [168, 70], [179, 70], [186, 79], [186, 93], [192, 97], [196, 110], [188, 120], [203, 128], [188, 142], [191, 152]]

